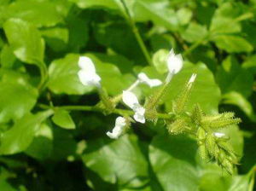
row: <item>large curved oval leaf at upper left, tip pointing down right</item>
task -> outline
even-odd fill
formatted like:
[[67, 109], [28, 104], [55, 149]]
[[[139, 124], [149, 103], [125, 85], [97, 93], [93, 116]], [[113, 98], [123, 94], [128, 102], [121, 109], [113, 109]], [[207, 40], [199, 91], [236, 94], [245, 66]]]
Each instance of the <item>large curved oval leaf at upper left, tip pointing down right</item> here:
[[20, 61], [44, 64], [44, 40], [35, 26], [20, 19], [10, 19], [3, 25], [10, 47]]

